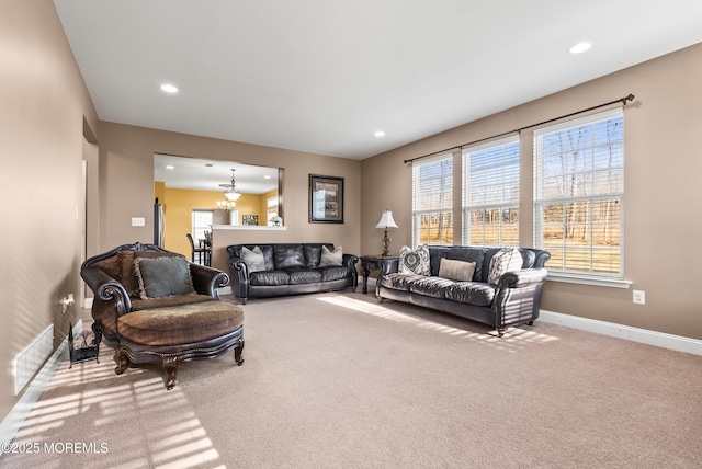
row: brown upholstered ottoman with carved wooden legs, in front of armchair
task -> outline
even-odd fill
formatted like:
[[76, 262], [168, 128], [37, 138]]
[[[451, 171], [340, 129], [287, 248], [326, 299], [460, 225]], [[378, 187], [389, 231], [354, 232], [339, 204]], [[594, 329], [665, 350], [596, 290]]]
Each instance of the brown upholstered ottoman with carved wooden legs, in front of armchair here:
[[216, 299], [132, 311], [117, 319], [117, 330], [115, 373], [123, 374], [129, 364], [162, 363], [166, 389], [176, 385], [182, 362], [214, 358], [234, 348], [236, 364], [244, 363], [244, 312]]

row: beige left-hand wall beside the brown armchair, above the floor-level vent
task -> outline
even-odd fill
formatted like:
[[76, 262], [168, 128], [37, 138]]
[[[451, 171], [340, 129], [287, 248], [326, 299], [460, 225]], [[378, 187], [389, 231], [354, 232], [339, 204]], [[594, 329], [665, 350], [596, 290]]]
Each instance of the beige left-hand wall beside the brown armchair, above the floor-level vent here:
[[19, 399], [15, 356], [52, 323], [58, 346], [76, 323], [59, 300], [83, 288], [83, 118], [92, 134], [97, 114], [50, 0], [0, 2], [0, 70], [2, 419]]

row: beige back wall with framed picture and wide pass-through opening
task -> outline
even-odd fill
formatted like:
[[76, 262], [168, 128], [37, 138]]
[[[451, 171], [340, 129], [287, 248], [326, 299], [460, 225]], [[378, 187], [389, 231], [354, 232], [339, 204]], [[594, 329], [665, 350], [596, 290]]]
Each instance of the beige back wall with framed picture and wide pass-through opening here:
[[[103, 251], [124, 243], [152, 241], [156, 152], [283, 168], [283, 217], [287, 230], [215, 233], [214, 267], [227, 271], [226, 247], [239, 242], [332, 242], [342, 245], [346, 252], [360, 251], [360, 161], [100, 122], [100, 247]], [[310, 173], [344, 179], [344, 224], [308, 222]], [[132, 217], [144, 217], [146, 226], [132, 227]]]

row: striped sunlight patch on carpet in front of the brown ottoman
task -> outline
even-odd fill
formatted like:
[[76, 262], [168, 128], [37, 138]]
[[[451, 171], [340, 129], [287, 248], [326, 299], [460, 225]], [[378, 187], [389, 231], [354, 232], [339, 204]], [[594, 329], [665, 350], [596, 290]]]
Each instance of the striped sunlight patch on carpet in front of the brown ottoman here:
[[[124, 376], [117, 376], [112, 364], [83, 363], [70, 369], [68, 365], [68, 361], [61, 365], [45, 398], [32, 405], [13, 444], [27, 447], [38, 444], [43, 448], [71, 442], [81, 448], [97, 449], [94, 457], [102, 467], [223, 467], [220, 454], [191, 410], [186, 394], [179, 389], [167, 391], [160, 373], [129, 368]], [[150, 420], [158, 421], [158, 431], [145, 433], [139, 422], [133, 420], [135, 414], [148, 414]], [[76, 426], [94, 428], [95, 439], [73, 442], [64, 434], [65, 428]], [[146, 458], [129, 460], [131, 448], [137, 446], [148, 448]], [[20, 456], [30, 460], [32, 455]]]

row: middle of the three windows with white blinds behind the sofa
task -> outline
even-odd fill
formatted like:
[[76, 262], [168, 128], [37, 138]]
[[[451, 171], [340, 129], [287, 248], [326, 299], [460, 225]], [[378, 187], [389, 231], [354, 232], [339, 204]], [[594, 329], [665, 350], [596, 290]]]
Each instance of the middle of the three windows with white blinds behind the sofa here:
[[463, 243], [519, 245], [519, 137], [463, 151]]

